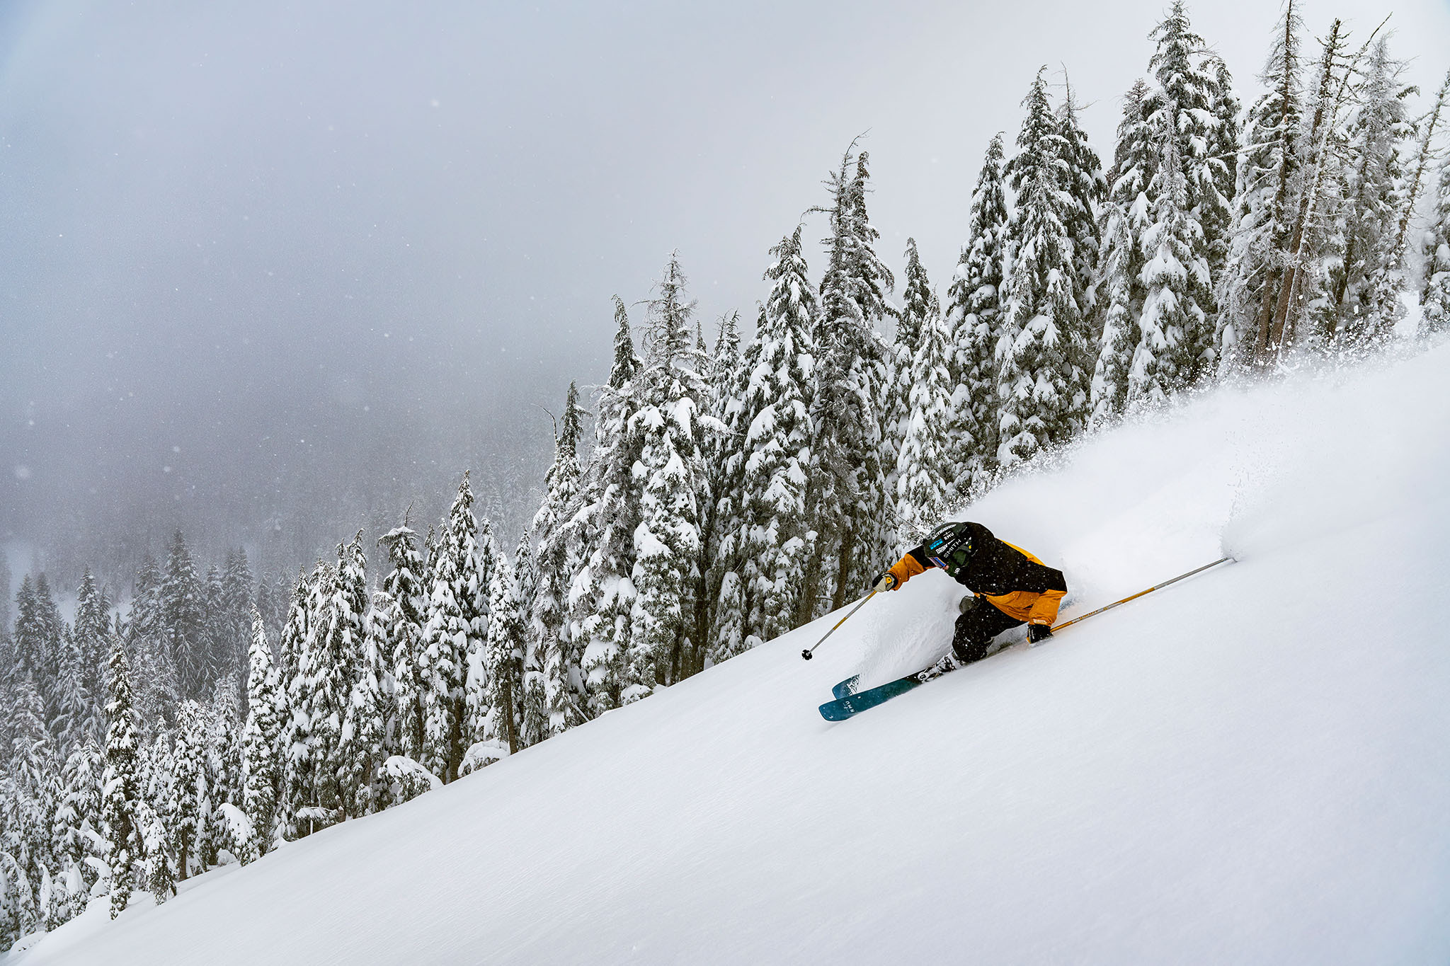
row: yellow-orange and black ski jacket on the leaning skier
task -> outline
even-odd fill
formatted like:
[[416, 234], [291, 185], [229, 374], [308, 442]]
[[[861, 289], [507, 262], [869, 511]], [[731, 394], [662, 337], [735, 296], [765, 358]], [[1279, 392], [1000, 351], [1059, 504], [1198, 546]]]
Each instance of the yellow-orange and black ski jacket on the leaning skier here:
[[890, 575], [900, 587], [932, 566], [944, 569], [1003, 614], [1030, 624], [1051, 627], [1067, 592], [1061, 571], [1022, 547], [998, 540], [980, 523], [941, 524], [908, 550]]

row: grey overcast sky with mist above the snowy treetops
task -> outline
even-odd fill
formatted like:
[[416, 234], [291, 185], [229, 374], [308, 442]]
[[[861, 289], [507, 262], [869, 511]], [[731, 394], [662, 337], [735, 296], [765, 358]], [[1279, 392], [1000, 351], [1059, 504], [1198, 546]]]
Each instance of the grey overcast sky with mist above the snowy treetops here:
[[[286, 521], [291, 547], [470, 465], [518, 527], [536, 407], [608, 375], [612, 294], [679, 249], [708, 329], [753, 319], [863, 132], [883, 255], [915, 235], [944, 287], [1038, 67], [1109, 156], [1164, 6], [9, 0], [0, 534]], [[1357, 36], [1391, 12], [1302, 9]], [[1190, 12], [1247, 103], [1277, 4]], [[1393, 12], [1433, 88], [1450, 4]]]

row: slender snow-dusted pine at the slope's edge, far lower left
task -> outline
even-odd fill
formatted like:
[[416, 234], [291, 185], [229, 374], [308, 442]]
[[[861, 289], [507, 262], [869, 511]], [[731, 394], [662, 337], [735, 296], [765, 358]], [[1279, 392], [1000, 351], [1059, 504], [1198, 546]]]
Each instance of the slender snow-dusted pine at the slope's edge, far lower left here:
[[145, 847], [136, 824], [136, 724], [132, 720], [130, 668], [120, 640], [110, 647], [106, 704], [106, 772], [102, 778], [102, 823], [106, 834], [106, 865], [110, 868], [110, 918], [130, 901], [133, 866]]

